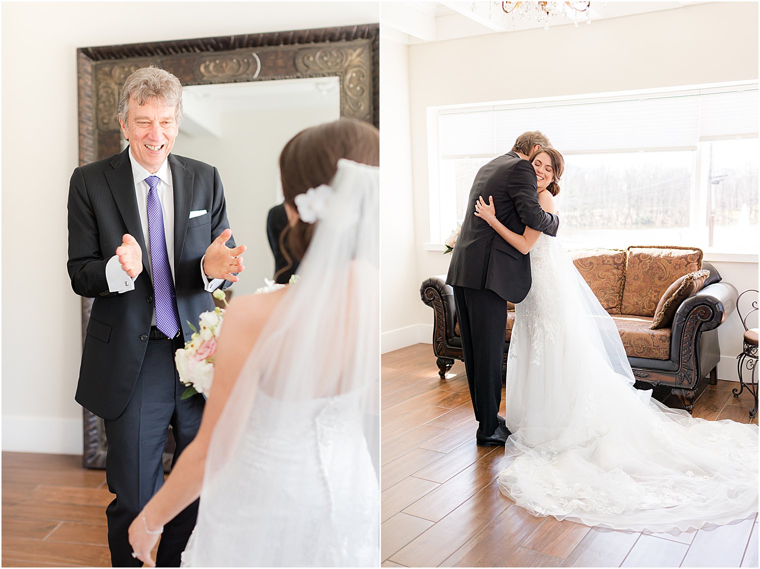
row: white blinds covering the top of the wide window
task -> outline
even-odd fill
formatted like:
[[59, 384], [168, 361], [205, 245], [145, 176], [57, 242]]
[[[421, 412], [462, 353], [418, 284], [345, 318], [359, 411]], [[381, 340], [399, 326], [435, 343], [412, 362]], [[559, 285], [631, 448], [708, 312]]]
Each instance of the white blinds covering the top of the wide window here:
[[758, 136], [758, 86], [442, 109], [439, 156], [502, 154], [534, 130], [563, 153], [692, 150], [700, 141]]

